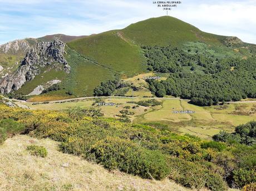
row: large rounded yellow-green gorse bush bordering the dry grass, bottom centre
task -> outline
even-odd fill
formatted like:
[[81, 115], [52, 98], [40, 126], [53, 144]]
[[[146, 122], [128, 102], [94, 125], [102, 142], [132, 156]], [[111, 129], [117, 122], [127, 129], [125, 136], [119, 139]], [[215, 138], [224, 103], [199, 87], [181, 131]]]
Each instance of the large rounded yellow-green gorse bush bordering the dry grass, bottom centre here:
[[166, 178], [170, 169], [164, 154], [140, 148], [128, 140], [107, 138], [91, 149], [98, 163], [107, 169], [119, 169], [142, 178]]

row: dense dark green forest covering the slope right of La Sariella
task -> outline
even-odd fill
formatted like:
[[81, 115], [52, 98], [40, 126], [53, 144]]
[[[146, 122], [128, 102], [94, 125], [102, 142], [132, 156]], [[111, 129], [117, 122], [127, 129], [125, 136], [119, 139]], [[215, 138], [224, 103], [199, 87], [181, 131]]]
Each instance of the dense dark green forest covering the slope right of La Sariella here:
[[142, 48], [148, 69], [170, 73], [166, 81], [147, 80], [150, 91], [157, 97], [191, 99], [190, 103], [200, 106], [256, 98], [255, 57], [216, 58], [171, 47]]

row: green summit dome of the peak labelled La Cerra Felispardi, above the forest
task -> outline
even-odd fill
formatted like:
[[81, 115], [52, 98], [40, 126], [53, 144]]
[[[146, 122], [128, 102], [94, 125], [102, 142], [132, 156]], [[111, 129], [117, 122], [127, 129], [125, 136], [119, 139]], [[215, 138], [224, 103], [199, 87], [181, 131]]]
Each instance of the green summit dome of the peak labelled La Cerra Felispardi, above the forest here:
[[150, 18], [122, 29], [125, 36], [143, 45], [178, 45], [190, 41], [220, 43], [223, 36], [201, 32], [191, 24], [164, 16]]

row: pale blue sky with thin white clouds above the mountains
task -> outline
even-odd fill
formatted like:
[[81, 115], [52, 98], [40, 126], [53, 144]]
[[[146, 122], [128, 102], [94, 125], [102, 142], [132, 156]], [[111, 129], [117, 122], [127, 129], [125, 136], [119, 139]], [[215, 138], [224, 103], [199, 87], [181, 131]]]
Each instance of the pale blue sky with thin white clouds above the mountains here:
[[[169, 16], [256, 44], [256, 0], [181, 2]], [[151, 0], [0, 0], [0, 44], [56, 33], [90, 35], [165, 15]]]

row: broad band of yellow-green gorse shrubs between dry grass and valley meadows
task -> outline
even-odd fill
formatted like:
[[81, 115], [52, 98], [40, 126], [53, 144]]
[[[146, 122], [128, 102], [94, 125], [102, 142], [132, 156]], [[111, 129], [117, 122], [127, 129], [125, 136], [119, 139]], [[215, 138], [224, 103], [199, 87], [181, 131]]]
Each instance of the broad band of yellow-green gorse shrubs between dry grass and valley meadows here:
[[81, 109], [51, 112], [1, 105], [1, 129], [8, 136], [28, 133], [57, 140], [62, 152], [110, 170], [170, 178], [189, 188], [226, 190], [227, 185], [242, 188], [255, 182], [255, 145], [205, 141], [171, 133], [161, 125], [121, 123], [91, 112], [94, 117]]

